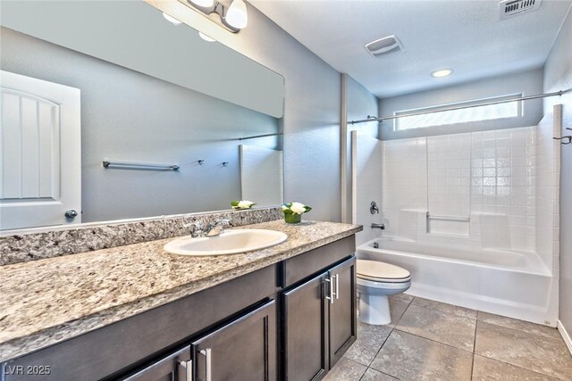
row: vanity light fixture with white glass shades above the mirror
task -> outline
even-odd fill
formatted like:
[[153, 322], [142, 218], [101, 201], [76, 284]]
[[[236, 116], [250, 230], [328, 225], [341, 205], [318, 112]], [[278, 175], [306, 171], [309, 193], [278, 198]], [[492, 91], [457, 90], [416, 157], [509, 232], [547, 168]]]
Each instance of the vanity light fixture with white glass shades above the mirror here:
[[[232, 33], [238, 33], [240, 29], [247, 27], [248, 12], [244, 0], [231, 0], [228, 8], [214, 0], [187, 0], [186, 4], [193, 10], [205, 14], [206, 17], [212, 13], [218, 14], [221, 19], [220, 24]], [[208, 18], [214, 21], [214, 19]]]

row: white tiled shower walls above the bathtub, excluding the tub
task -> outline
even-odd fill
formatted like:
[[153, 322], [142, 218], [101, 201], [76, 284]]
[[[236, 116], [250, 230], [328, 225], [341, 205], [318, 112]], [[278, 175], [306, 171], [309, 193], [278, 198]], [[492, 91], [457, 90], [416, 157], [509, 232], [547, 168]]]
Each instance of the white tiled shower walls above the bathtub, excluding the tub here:
[[[357, 162], [367, 158], [368, 164], [357, 171], [357, 207], [365, 207], [368, 197], [381, 197], [385, 236], [536, 252], [553, 269], [559, 150], [551, 137], [557, 124], [548, 115], [539, 126], [526, 128], [390, 141], [367, 137], [364, 152], [366, 137], [358, 136]], [[376, 159], [370, 153], [379, 147], [381, 166], [372, 166]], [[427, 211], [436, 218], [429, 224]], [[357, 214], [364, 231], [367, 217]]]

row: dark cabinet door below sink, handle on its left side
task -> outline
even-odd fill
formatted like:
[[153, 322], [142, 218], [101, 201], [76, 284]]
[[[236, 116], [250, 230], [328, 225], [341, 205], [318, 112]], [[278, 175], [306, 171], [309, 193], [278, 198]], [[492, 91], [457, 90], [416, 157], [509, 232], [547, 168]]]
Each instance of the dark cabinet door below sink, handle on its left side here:
[[274, 301], [193, 342], [195, 381], [275, 380]]

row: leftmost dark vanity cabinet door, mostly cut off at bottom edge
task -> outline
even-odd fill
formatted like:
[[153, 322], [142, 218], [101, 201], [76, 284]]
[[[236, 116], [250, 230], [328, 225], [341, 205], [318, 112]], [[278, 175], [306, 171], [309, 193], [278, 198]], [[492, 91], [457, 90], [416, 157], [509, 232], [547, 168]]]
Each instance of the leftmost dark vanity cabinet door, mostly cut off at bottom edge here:
[[145, 369], [141, 369], [122, 381], [191, 381], [190, 347], [172, 353], [157, 360]]

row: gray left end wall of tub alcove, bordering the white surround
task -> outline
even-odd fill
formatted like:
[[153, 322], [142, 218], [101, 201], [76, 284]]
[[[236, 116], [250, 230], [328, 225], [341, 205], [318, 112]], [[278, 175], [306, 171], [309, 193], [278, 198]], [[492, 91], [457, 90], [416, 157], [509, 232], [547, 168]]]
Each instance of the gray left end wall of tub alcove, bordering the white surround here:
[[[371, 94], [366, 87], [363, 87], [356, 79], [351, 78], [349, 75], [344, 74], [346, 77], [346, 110], [347, 120], [360, 120], [366, 119], [367, 115], [378, 115], [379, 99]], [[361, 123], [356, 125], [348, 125], [348, 142], [346, 145], [347, 160], [346, 160], [346, 186], [348, 189], [346, 197], [346, 212], [348, 221], [351, 221], [351, 131], [357, 130], [362, 134], [370, 137], [379, 138], [379, 124], [376, 121]], [[381, 168], [381, 167], [380, 167]], [[380, 172], [381, 176], [381, 172]], [[381, 200], [378, 201], [381, 205]], [[363, 206], [363, 205], [362, 205]]]

